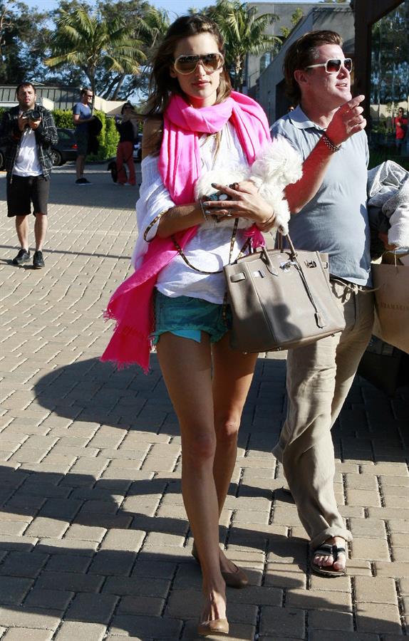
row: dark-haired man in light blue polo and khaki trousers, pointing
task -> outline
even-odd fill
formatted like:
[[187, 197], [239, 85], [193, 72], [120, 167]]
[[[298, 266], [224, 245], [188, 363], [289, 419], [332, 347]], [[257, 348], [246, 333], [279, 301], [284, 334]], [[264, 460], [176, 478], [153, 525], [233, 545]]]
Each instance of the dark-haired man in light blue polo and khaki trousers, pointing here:
[[346, 573], [352, 540], [333, 489], [331, 427], [373, 325], [364, 96], [352, 98], [352, 61], [341, 46], [333, 31], [305, 33], [289, 46], [286, 88], [298, 106], [272, 127], [304, 158], [303, 177], [286, 188], [291, 239], [296, 248], [329, 254], [333, 294], [346, 321], [341, 334], [289, 350], [288, 412], [274, 448], [311, 539], [311, 570], [327, 576]]

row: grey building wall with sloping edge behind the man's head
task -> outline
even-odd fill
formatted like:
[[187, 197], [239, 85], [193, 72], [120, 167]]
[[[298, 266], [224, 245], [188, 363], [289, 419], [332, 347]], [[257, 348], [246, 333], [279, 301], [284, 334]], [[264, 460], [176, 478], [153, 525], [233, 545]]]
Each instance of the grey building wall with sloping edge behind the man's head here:
[[282, 71], [286, 50], [303, 33], [317, 29], [331, 29], [331, 31], [340, 33], [346, 57], [353, 57], [355, 29], [351, 8], [332, 5], [331, 8], [328, 6], [322, 8], [321, 6], [319, 9], [316, 7], [312, 9], [304, 20], [294, 28], [274, 61], [264, 70], [257, 82], [255, 98], [264, 108], [270, 125], [286, 113], [289, 108]]

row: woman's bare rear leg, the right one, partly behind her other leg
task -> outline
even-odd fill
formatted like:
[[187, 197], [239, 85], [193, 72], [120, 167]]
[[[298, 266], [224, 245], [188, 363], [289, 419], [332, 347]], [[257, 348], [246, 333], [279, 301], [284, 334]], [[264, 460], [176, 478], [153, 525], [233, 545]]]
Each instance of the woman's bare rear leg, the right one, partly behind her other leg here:
[[[236, 464], [240, 420], [252, 384], [257, 356], [232, 350], [228, 334], [213, 345], [214, 428], [217, 438], [213, 476], [219, 514], [222, 513]], [[234, 563], [222, 551], [220, 565], [223, 572], [234, 572]]]

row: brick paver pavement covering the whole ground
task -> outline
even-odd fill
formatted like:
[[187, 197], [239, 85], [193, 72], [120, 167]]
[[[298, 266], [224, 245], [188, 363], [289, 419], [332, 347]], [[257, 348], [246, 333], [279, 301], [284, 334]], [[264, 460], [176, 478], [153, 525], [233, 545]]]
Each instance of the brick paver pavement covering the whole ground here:
[[[180, 494], [180, 437], [155, 355], [148, 376], [98, 357], [129, 271], [135, 189], [105, 167], [53, 174], [46, 267], [16, 268], [1, 204], [0, 637], [195, 638], [200, 570]], [[5, 179], [0, 179], [4, 200]], [[32, 239], [32, 220], [31, 239]], [[271, 454], [285, 361], [259, 358], [221, 541], [249, 573], [228, 591], [231, 639], [395, 641], [409, 612], [408, 394], [358, 380], [334, 430], [348, 576], [311, 576]]]

